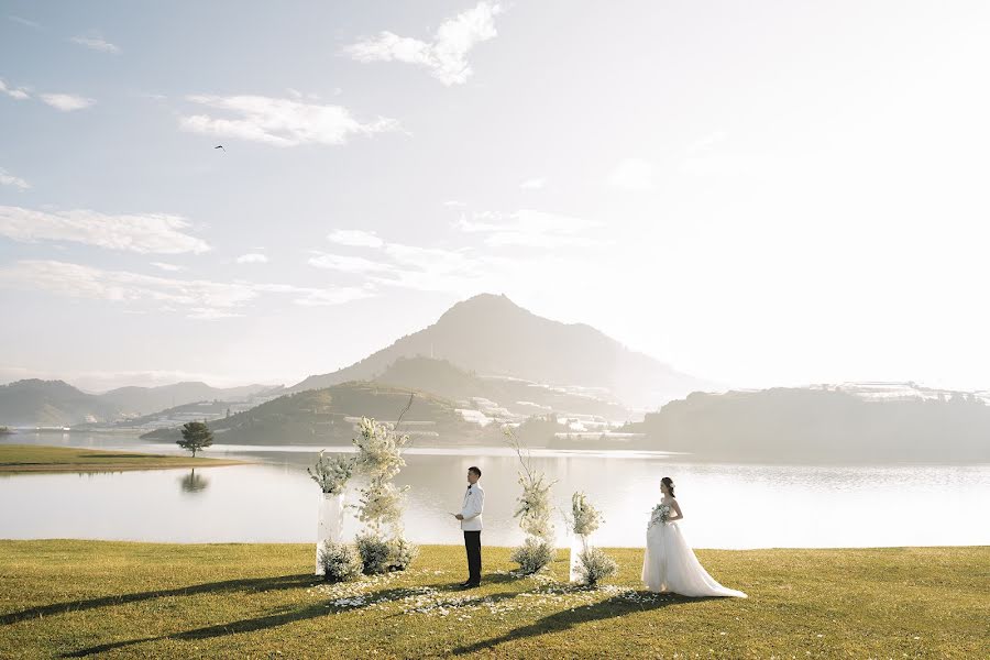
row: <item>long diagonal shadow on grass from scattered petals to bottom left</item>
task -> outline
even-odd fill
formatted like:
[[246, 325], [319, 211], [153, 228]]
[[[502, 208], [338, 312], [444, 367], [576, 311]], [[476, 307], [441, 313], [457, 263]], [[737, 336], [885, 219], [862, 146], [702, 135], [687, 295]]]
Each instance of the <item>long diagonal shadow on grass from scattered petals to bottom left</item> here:
[[[308, 578], [308, 575], [307, 575]], [[99, 646], [88, 647], [85, 649], [79, 649], [77, 651], [72, 651], [67, 653], [63, 653], [63, 658], [84, 658], [86, 656], [92, 656], [95, 653], [106, 653], [108, 651], [112, 651], [116, 649], [134, 646], [138, 644], [145, 644], [148, 641], [160, 641], [163, 639], [179, 639], [184, 641], [195, 641], [199, 639], [210, 639], [212, 637], [224, 637], [227, 635], [240, 635], [242, 632], [255, 632], [257, 630], [264, 630], [267, 628], [277, 628], [278, 626], [284, 626], [286, 624], [292, 624], [295, 622], [304, 622], [308, 619], [319, 618], [321, 616], [327, 616], [330, 614], [336, 614], [338, 612], [353, 612], [356, 609], [363, 609], [364, 607], [369, 607], [370, 605], [374, 605], [381, 601], [391, 601], [393, 597], [404, 596], [409, 593], [408, 588], [389, 588], [380, 592], [374, 592], [367, 594], [367, 598], [361, 605], [349, 605], [344, 607], [333, 607], [332, 605], [327, 605], [324, 602], [320, 602], [316, 605], [310, 605], [308, 607], [304, 607], [301, 609], [294, 609], [290, 612], [280, 612], [277, 614], [270, 614], [266, 616], [258, 616], [255, 618], [246, 618], [241, 619], [239, 622], [230, 622], [227, 624], [218, 624], [216, 626], [206, 626], [204, 628], [195, 628], [193, 630], [186, 630], [184, 632], [173, 632], [172, 635], [161, 635], [158, 637], [144, 637], [141, 639], [128, 639], [125, 641], [113, 641], [110, 644], [102, 644]]]

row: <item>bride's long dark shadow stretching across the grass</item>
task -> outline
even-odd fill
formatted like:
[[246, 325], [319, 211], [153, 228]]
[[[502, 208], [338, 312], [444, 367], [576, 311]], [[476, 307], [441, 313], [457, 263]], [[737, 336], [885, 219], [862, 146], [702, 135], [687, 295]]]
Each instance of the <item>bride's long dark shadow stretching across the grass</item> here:
[[509, 630], [501, 637], [476, 641], [470, 646], [458, 647], [453, 650], [454, 656], [464, 656], [476, 653], [479, 651], [491, 650], [492, 647], [514, 641], [516, 639], [525, 639], [527, 637], [539, 637], [540, 635], [549, 635], [570, 630], [574, 626], [587, 622], [601, 622], [603, 619], [615, 618], [632, 614], [637, 612], [650, 612], [660, 609], [670, 605], [682, 605], [686, 603], [700, 603], [704, 601], [713, 601], [717, 598], [686, 598], [683, 596], [664, 596], [654, 598], [654, 594], [650, 592], [635, 592], [637, 596], [649, 598], [644, 602], [631, 601], [627, 596], [614, 596], [600, 603], [591, 605], [582, 605], [573, 609], [564, 609], [537, 620], [536, 623]]

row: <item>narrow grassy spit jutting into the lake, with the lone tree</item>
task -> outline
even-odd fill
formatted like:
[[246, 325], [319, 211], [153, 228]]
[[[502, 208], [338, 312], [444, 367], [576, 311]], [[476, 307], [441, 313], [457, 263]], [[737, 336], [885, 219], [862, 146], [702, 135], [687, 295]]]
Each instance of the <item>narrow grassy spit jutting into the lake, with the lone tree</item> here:
[[131, 451], [99, 451], [38, 444], [0, 444], [0, 472], [119, 472], [121, 470], [207, 468], [242, 463], [243, 461], [226, 459], [165, 457]]

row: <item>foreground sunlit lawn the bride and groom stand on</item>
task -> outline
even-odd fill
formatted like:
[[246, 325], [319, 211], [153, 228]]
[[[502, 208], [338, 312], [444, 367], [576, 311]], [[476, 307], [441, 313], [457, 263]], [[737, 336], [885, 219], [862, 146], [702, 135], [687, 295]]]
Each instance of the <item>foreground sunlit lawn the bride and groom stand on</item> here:
[[701, 550], [749, 600], [572, 587], [484, 550], [428, 546], [405, 573], [328, 585], [309, 544], [0, 541], [0, 657], [988, 658], [990, 548]]

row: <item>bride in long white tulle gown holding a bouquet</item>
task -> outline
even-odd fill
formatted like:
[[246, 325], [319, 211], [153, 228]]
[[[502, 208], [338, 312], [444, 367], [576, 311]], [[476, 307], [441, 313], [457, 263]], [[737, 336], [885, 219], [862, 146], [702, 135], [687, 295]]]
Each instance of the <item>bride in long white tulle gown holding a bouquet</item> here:
[[660, 480], [663, 497], [653, 508], [647, 527], [647, 550], [642, 558], [642, 582], [651, 592], [672, 592], [682, 596], [735, 596], [746, 594], [722, 586], [702, 568], [676, 520], [684, 515], [673, 494], [673, 481]]

